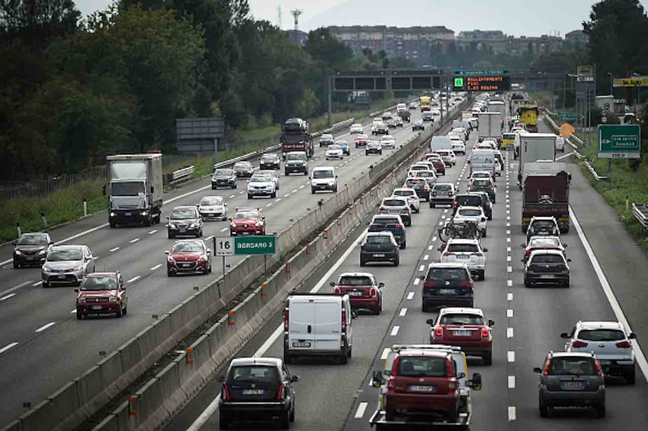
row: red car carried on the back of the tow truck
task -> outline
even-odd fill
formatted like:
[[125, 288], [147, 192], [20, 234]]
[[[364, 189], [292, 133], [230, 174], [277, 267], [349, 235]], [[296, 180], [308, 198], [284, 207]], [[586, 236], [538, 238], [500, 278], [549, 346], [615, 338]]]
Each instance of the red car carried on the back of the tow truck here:
[[391, 421], [397, 414], [430, 414], [456, 423], [461, 397], [453, 362], [448, 351], [408, 349], [399, 353], [387, 381], [386, 419]]

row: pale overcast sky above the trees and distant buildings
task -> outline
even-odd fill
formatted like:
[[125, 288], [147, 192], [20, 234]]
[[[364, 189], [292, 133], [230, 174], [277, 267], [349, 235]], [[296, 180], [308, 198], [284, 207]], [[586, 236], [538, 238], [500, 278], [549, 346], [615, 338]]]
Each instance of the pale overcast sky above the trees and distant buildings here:
[[[76, 0], [86, 15], [105, 8], [111, 0]], [[312, 30], [327, 25], [445, 25], [459, 33], [462, 30], [502, 30], [513, 36], [564, 35], [582, 29], [588, 19], [592, 0], [544, 0], [529, 5], [519, 0], [249, 0], [256, 19], [279, 23], [277, 7], [281, 6], [281, 27], [294, 27], [291, 10], [301, 9], [299, 29]], [[644, 7], [648, 0], [642, 0]], [[531, 12], [531, 13], [529, 13]], [[423, 18], [426, 17], [426, 18]]]

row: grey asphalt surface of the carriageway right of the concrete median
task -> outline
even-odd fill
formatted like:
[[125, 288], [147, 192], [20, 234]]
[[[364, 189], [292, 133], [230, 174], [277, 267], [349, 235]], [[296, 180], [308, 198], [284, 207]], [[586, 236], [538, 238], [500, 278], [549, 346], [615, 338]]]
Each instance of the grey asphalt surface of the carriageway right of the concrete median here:
[[[540, 132], [550, 132], [540, 124]], [[474, 141], [475, 134], [472, 135]], [[568, 152], [570, 150], [568, 149]], [[569, 161], [569, 158], [563, 159]], [[569, 244], [571, 263], [570, 288], [525, 288], [522, 283], [522, 248], [526, 237], [520, 230], [521, 192], [516, 186], [516, 161], [510, 161], [507, 176], [498, 179], [498, 199], [489, 236], [483, 245], [489, 249], [485, 281], [475, 283], [475, 306], [495, 321], [492, 366], [481, 360], [469, 360], [469, 374], [483, 376], [483, 390], [474, 392], [474, 420], [471, 430], [627, 430], [645, 429], [648, 399], [645, 359], [638, 360], [634, 386], [623, 380], [607, 380], [607, 417], [596, 419], [592, 412], [559, 411], [549, 419], [538, 414], [538, 375], [533, 367], [541, 366], [549, 350], [561, 351], [561, 332], [570, 331], [577, 320], [618, 320], [621, 314], [632, 323], [632, 329], [643, 340], [648, 318], [642, 310], [643, 286], [648, 277], [646, 256], [637, 253], [623, 226], [607, 204], [588, 184], [575, 164], [570, 163], [572, 227], [562, 235]], [[441, 181], [458, 181], [465, 190], [467, 172], [465, 157], [448, 170]], [[465, 167], [465, 165], [464, 165]], [[507, 187], [508, 186], [508, 187]], [[448, 216], [446, 209], [429, 209], [413, 216], [408, 227], [408, 248], [401, 253], [400, 266], [372, 266], [385, 283], [384, 306], [380, 316], [361, 315], [354, 321], [353, 358], [341, 366], [326, 360], [301, 360], [290, 366], [299, 375], [297, 413], [294, 430], [369, 430], [377, 395], [369, 387], [371, 371], [382, 367], [385, 347], [397, 343], [425, 343], [429, 327], [425, 321], [434, 313], [421, 312], [421, 288], [425, 266], [438, 261], [440, 244], [436, 227]], [[577, 226], [575, 226], [577, 225]], [[340, 250], [303, 286], [304, 291], [329, 290], [329, 281], [341, 272], [358, 271], [358, 227]], [[610, 289], [607, 289], [607, 283]], [[616, 296], [620, 307], [614, 299]], [[278, 314], [240, 351], [238, 356], [282, 357], [282, 318]], [[360, 340], [360, 342], [358, 342]], [[639, 349], [637, 349], [638, 353]], [[218, 429], [218, 410], [214, 399], [220, 384], [214, 380], [167, 427], [170, 431]], [[236, 429], [266, 429], [268, 424]]]

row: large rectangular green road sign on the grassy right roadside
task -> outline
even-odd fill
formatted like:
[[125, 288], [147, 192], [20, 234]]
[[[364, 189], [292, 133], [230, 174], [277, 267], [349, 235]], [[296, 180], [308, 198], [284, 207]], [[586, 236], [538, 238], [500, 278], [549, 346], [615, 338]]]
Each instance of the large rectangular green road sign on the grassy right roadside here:
[[599, 157], [603, 159], [640, 159], [642, 139], [639, 124], [599, 124]]

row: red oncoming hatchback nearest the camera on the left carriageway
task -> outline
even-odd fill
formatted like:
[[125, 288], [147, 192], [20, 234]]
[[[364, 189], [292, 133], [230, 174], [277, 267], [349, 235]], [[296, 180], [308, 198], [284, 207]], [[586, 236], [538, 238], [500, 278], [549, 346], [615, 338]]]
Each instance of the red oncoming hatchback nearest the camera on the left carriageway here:
[[128, 314], [128, 294], [121, 272], [87, 274], [76, 292], [76, 318], [89, 315]]

